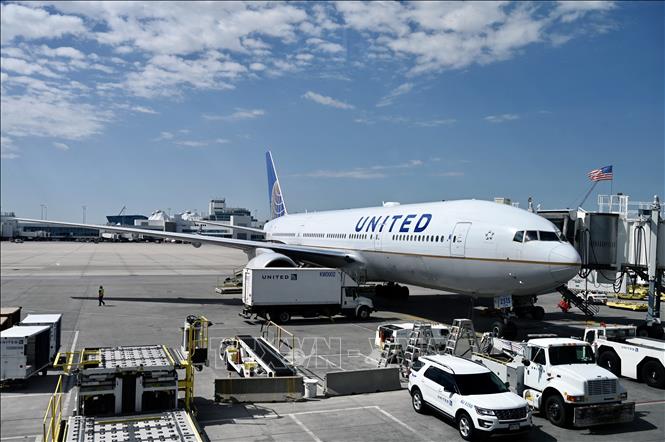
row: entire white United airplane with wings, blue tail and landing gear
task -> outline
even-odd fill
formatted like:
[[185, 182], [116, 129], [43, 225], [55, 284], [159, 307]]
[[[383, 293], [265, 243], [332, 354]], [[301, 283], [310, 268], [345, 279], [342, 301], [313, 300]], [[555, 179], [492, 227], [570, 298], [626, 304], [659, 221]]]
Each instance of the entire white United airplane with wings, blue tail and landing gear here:
[[265, 241], [46, 222], [242, 249], [253, 267], [340, 268], [356, 280], [387, 281], [402, 294], [408, 289], [399, 284], [494, 298], [505, 313], [503, 328], [496, 331], [506, 336], [516, 332], [511, 308], [542, 318], [535, 297], [555, 291], [580, 270], [577, 250], [557, 227], [523, 209], [456, 200], [289, 214], [270, 151], [266, 168], [271, 220], [263, 230], [239, 228], [258, 230]]

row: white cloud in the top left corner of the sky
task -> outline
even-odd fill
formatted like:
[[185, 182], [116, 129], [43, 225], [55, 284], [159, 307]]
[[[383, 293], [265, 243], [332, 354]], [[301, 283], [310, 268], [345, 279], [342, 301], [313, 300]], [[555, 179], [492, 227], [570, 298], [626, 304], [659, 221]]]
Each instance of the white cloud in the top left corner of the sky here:
[[71, 15], [50, 14], [44, 9], [33, 9], [23, 5], [2, 5], [0, 39], [8, 44], [17, 37], [32, 40], [57, 38], [67, 34], [86, 32], [83, 20]]

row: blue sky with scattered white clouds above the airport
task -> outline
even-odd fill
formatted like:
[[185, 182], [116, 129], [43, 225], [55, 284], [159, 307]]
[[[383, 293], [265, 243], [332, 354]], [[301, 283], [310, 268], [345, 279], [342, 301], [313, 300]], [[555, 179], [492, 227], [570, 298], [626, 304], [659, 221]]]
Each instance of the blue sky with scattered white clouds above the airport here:
[[572, 207], [608, 164], [663, 197], [664, 23], [662, 2], [3, 2], [2, 210], [264, 218], [267, 148], [292, 212]]

